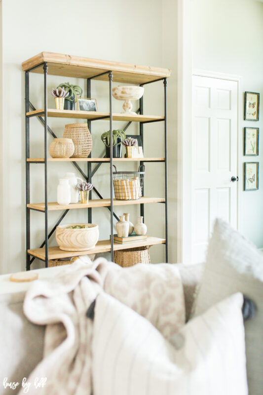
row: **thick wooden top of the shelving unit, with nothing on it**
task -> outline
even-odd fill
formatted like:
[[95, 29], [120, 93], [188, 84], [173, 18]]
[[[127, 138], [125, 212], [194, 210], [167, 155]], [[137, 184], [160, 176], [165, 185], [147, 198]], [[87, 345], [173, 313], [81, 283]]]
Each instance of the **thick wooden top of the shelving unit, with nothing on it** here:
[[[53, 76], [92, 78], [109, 71], [113, 72], [113, 81], [141, 84], [155, 79], [169, 78], [171, 71], [159, 67], [139, 66], [128, 63], [84, 58], [53, 52], [41, 52], [22, 63], [23, 71], [43, 73], [43, 63], [47, 62], [48, 74]], [[97, 77], [108, 81], [108, 74]]]

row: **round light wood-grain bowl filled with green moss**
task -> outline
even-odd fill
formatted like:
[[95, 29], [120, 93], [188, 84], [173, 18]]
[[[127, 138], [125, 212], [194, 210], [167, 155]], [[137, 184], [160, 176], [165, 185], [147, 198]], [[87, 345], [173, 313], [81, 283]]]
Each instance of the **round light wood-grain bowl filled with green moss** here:
[[[88, 225], [88, 228], [68, 229], [69, 226]], [[86, 251], [95, 248], [99, 239], [99, 227], [95, 224], [66, 224], [56, 229], [56, 240], [63, 251]]]

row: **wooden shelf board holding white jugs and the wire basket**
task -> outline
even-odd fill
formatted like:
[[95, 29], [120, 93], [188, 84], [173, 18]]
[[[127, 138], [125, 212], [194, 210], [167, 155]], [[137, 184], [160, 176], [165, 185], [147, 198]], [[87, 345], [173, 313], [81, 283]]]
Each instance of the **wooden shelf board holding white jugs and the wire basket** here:
[[[142, 203], [159, 203], [165, 202], [162, 197], [141, 197], [137, 200], [116, 200], [113, 199], [113, 206], [126, 206], [130, 204], [142, 204]], [[88, 204], [84, 203], [71, 203], [67, 205], [58, 204], [57, 202], [48, 203], [48, 210], [69, 210], [75, 208], [88, 208], [88, 207], [109, 207], [111, 205], [111, 199], [92, 199], [89, 200]], [[40, 211], [45, 211], [45, 203], [29, 203], [28, 208], [33, 208]]]

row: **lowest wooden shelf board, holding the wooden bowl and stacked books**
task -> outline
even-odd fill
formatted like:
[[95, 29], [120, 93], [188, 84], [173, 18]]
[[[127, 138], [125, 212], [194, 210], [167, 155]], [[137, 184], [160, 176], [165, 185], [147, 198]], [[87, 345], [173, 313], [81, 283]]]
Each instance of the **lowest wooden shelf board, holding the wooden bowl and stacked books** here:
[[[113, 249], [114, 250], [122, 250], [126, 248], [133, 248], [133, 247], [143, 247], [145, 245], [154, 245], [154, 244], [162, 244], [165, 243], [165, 239], [159, 237], [147, 237], [146, 240], [142, 241], [133, 241], [123, 244], [116, 244], [114, 243]], [[109, 252], [111, 251], [111, 241], [110, 240], [100, 240], [97, 242], [95, 248], [92, 250], [87, 251], [62, 251], [58, 246], [56, 247], [49, 247], [48, 248], [48, 259], [59, 259], [59, 258], [67, 258], [71, 256], [79, 256], [79, 255], [89, 255], [89, 254], [98, 254], [102, 252]], [[45, 248], [36, 248], [36, 249], [29, 249], [28, 253], [36, 258], [45, 259]]]

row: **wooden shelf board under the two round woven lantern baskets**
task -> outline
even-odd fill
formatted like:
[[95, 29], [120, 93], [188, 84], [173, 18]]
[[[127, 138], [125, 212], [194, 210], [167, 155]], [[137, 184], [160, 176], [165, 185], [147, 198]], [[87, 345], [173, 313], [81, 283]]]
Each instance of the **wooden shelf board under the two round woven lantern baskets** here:
[[[164, 162], [164, 158], [113, 158], [113, 162]], [[27, 158], [27, 162], [44, 162], [44, 158]], [[110, 158], [47, 158], [48, 162], [110, 162]]]

